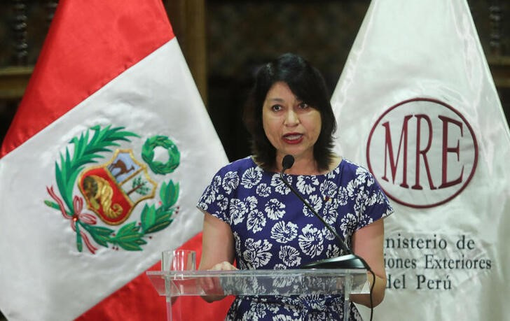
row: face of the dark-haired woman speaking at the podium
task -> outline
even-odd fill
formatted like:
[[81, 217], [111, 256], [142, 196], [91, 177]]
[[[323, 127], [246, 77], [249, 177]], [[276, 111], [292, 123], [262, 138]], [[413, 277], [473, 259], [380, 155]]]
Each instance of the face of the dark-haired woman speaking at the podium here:
[[262, 124], [277, 160], [287, 154], [296, 159], [313, 159], [313, 146], [321, 131], [319, 110], [299, 100], [289, 85], [277, 82], [270, 87], [262, 106]]

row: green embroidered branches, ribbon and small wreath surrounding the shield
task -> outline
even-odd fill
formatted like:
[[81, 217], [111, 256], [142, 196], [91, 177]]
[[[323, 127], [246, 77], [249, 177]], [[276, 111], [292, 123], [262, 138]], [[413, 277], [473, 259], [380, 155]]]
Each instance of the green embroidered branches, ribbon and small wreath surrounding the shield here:
[[[95, 126], [90, 129], [93, 131], [92, 138], [90, 138], [89, 130], [81, 134], [79, 138], [72, 138], [69, 143], [74, 144], [73, 155], [71, 156], [69, 148], [66, 148], [65, 155], [60, 154], [60, 165], [55, 162], [55, 179], [62, 199], [55, 193], [53, 186], [50, 186], [47, 187], [47, 190], [53, 201], [46, 200], [44, 203], [50, 208], [59, 210], [62, 216], [70, 221], [71, 228], [76, 232], [76, 248], [79, 252], [83, 250], [83, 243], [92, 254], [97, 250], [89, 236], [97, 244], [106, 248], [111, 245], [116, 250], [118, 248], [130, 251], [142, 250], [142, 245], [147, 243], [144, 238], [151, 237], [148, 234], [165, 229], [172, 223], [172, 216], [179, 209], [178, 206], [175, 206], [179, 197], [179, 183], [174, 184], [172, 180], [167, 183], [163, 182], [160, 187], [160, 206], [145, 204], [139, 222], [128, 222], [117, 230], [96, 226], [97, 219], [95, 215], [83, 213], [83, 198], [73, 195], [76, 179], [86, 164], [97, 163], [97, 159], [104, 158], [100, 153], [112, 152], [111, 148], [119, 146], [118, 141], [130, 142], [130, 137], [139, 136], [130, 131], [123, 131], [124, 127], [110, 128], [110, 126], [107, 126], [101, 128]], [[179, 166], [179, 150], [165, 136], [149, 138], [144, 144], [145, 149], [142, 148], [144, 149], [142, 158], [149, 157], [149, 159], [153, 159], [153, 154], [150, 152], [153, 152], [153, 148], [156, 146], [169, 149], [169, 155], [171, 150], [173, 158], [171, 157], [171, 164], [167, 162], [167, 164], [163, 164], [164, 166], [160, 166], [160, 164], [151, 160], [153, 166], [159, 171], [155, 171], [155, 173], [170, 173], [170, 169], [174, 171]], [[147, 150], [149, 150], [149, 153]], [[177, 163], [175, 159], [177, 159]], [[154, 171], [153, 166], [151, 166], [151, 169]]]

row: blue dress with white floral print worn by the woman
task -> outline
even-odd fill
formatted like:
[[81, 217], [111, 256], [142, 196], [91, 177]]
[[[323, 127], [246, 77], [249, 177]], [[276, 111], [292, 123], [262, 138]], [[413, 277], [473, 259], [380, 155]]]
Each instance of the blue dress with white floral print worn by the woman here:
[[[370, 172], [343, 159], [324, 175], [288, 175], [289, 183], [343, 236], [390, 215], [387, 197]], [[251, 157], [216, 173], [200, 210], [230, 225], [239, 269], [298, 269], [340, 255], [333, 234], [280, 180]], [[206, 214], [207, 215], [207, 214]], [[361, 320], [351, 304], [351, 319]], [[342, 320], [343, 296], [238, 296], [226, 320]]]

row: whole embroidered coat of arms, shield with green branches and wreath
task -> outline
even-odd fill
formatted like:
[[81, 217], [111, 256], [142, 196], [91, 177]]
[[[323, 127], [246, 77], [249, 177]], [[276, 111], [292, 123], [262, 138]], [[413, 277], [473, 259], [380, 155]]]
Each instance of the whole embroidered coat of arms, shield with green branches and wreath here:
[[[72, 138], [69, 144], [73, 148], [68, 146], [60, 154], [60, 164], [55, 162], [58, 192], [53, 185], [46, 187], [53, 200], [44, 202], [69, 220], [80, 252], [83, 243], [92, 254], [97, 245], [142, 250], [150, 234], [168, 227], [179, 211], [179, 183], [171, 179], [160, 180], [159, 201], [153, 202], [157, 205], [148, 201], [156, 198], [158, 190], [151, 174], [167, 176], [179, 166], [177, 146], [167, 136], [152, 136], [142, 146], [139, 160], [131, 149], [120, 148], [120, 143], [131, 143], [132, 138], [140, 136], [124, 127], [91, 127]], [[156, 148], [167, 151], [167, 162], [155, 160]], [[133, 220], [133, 210], [139, 204], [144, 207]]]

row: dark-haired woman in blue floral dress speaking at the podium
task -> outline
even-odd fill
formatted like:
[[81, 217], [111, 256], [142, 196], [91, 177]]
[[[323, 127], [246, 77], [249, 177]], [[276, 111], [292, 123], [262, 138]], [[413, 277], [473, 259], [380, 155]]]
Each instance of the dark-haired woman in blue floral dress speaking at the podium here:
[[[368, 294], [352, 301], [376, 306], [386, 285], [382, 218], [387, 197], [366, 169], [333, 154], [336, 121], [324, 78], [298, 55], [259, 69], [244, 124], [250, 157], [224, 166], [205, 189], [200, 269], [298, 269], [342, 255], [334, 234], [280, 179], [282, 159], [294, 157], [287, 182], [343, 238], [374, 274]], [[374, 278], [375, 276], [375, 278]], [[221, 297], [206, 297], [212, 301]], [[361, 317], [351, 304], [351, 320]], [[237, 297], [226, 320], [341, 320], [342, 295]]]

